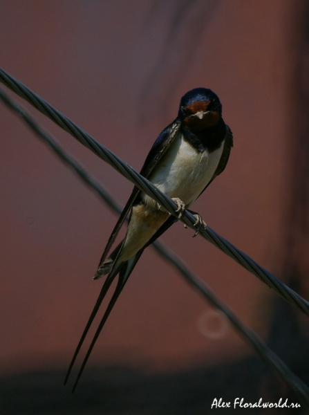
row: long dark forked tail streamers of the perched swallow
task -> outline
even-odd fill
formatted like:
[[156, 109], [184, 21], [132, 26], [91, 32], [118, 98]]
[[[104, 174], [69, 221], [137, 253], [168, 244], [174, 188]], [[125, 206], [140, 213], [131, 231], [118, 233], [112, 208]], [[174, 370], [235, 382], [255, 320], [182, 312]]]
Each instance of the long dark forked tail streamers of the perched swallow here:
[[97, 327], [97, 331], [95, 332], [95, 335], [93, 337], [93, 340], [88, 348], [88, 351], [86, 353], [86, 356], [82, 362], [82, 366], [79, 369], [79, 372], [77, 374], [77, 378], [75, 380], [75, 383], [73, 385], [73, 389], [72, 389], [72, 393], [75, 391], [75, 388], [77, 387], [77, 383], [78, 380], [80, 378], [80, 376], [82, 376], [82, 372], [84, 371], [84, 367], [86, 366], [86, 362], [89, 358], [89, 356], [91, 355], [91, 351], [95, 345], [95, 342], [97, 341], [97, 338], [100, 335], [100, 332], [107, 320], [107, 318], [109, 317], [109, 314], [111, 313], [111, 310], [113, 309], [113, 306], [115, 305], [115, 302], [117, 301], [122, 288], [124, 288], [124, 285], [127, 282], [127, 279], [129, 278], [131, 272], [133, 271], [133, 268], [135, 267], [136, 263], [138, 262], [138, 259], [140, 259], [140, 255], [142, 255], [143, 250], [140, 250], [136, 255], [134, 255], [134, 257], [132, 257], [131, 259], [129, 259], [129, 261], [125, 261], [122, 264], [120, 264], [120, 266], [118, 266], [117, 269], [115, 270], [111, 270], [111, 273], [109, 274], [109, 276], [106, 278], [106, 281], [104, 282], [103, 286], [102, 286], [102, 290], [100, 292], [99, 297], [97, 298], [97, 302], [95, 303], [95, 306], [93, 307], [93, 311], [89, 317], [89, 320], [86, 324], [86, 327], [84, 329], [84, 332], [82, 333], [82, 337], [79, 340], [79, 343], [77, 345], [77, 348], [75, 350], [75, 353], [73, 355], [73, 358], [71, 360], [71, 364], [68, 368], [68, 372], [66, 374], [66, 378], [64, 380], [64, 385], [66, 385], [66, 382], [68, 381], [68, 377], [70, 376], [71, 370], [73, 368], [73, 365], [75, 363], [75, 360], [77, 358], [77, 355], [79, 353], [79, 350], [82, 347], [82, 344], [86, 338], [86, 335], [91, 327], [91, 324], [93, 323], [93, 320], [95, 319], [95, 315], [97, 315], [97, 311], [99, 311], [99, 308], [102, 304], [102, 301], [106, 295], [106, 293], [109, 291], [109, 287], [111, 286], [113, 280], [115, 279], [116, 275], [119, 273], [119, 277], [118, 277], [118, 283], [117, 286], [115, 288], [115, 291], [113, 293], [113, 296], [111, 297], [111, 300], [109, 302], [109, 305], [106, 308], [106, 311], [102, 317], [102, 320], [99, 324], [99, 326]]

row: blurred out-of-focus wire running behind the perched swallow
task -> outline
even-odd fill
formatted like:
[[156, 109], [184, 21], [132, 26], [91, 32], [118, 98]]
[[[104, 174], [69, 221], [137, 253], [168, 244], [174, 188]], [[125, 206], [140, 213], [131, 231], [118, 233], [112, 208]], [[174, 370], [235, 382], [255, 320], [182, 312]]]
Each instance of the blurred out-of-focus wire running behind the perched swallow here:
[[[21, 118], [24, 119], [24, 121], [28, 124], [28, 126], [32, 129], [32, 131], [35, 132], [35, 134], [44, 140], [48, 144], [48, 146], [54, 151], [55, 154], [77, 175], [79, 178], [84, 181], [84, 183], [90, 187], [92, 190], [94, 190], [100, 198], [113, 210], [113, 212], [120, 214], [122, 212], [122, 208], [120, 204], [113, 199], [113, 197], [107, 192], [107, 190], [100, 184], [93, 176], [88, 174], [86, 172], [86, 169], [80, 165], [71, 154], [68, 154], [67, 151], [65, 151], [62, 146], [59, 145], [57, 140], [51, 136], [48, 131], [43, 129], [39, 123], [30, 116], [30, 114], [24, 109], [24, 107], [21, 107], [20, 104], [17, 104], [14, 100], [12, 100], [6, 93], [4, 93], [0, 89], [0, 99], [3, 100], [3, 102], [15, 113], [17, 113]], [[198, 275], [195, 275], [185, 264], [182, 259], [178, 257], [173, 251], [171, 251], [169, 248], [165, 247], [163, 243], [160, 243], [159, 241], [155, 241], [152, 244], [153, 248], [155, 248], [156, 252], [167, 260], [169, 264], [172, 264], [182, 275], [182, 277], [185, 277], [185, 280], [191, 284], [200, 294], [205, 297], [210, 304], [215, 306], [216, 308], [220, 309], [225, 316], [227, 317], [227, 320], [229, 320], [230, 324], [234, 327], [234, 329], [237, 331], [238, 335], [243, 338], [243, 340], [252, 348], [254, 351], [258, 354], [259, 358], [267, 365], [274, 374], [277, 374], [281, 380], [283, 380], [292, 390], [294, 390], [301, 399], [304, 401], [305, 405], [309, 408], [309, 389], [308, 387], [299, 379], [297, 376], [295, 376], [290, 369], [285, 365], [285, 363], [275, 354], [273, 353], [268, 347], [265, 345], [265, 343], [259, 338], [252, 329], [245, 326], [240, 320], [238, 320], [238, 317], [234, 314], [234, 312], [228, 307], [226, 304], [224, 304], [221, 299], [218, 299], [211, 288], [205, 282], [203, 282]]]

